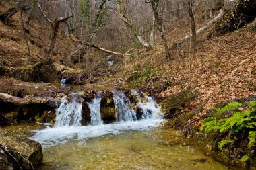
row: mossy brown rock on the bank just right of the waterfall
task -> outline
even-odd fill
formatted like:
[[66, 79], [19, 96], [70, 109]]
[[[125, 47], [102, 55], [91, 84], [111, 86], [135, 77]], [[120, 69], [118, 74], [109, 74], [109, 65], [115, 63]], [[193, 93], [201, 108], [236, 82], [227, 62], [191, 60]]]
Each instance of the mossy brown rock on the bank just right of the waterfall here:
[[196, 97], [197, 93], [189, 90], [170, 95], [161, 103], [164, 118], [169, 119], [177, 115], [179, 110], [186, 108]]

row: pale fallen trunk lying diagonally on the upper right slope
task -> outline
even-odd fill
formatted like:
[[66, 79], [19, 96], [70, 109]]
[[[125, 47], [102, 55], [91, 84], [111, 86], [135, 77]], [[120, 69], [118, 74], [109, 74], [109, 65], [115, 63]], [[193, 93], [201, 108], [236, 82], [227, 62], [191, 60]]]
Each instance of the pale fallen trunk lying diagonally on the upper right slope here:
[[[204, 30], [206, 30], [210, 25], [218, 22], [218, 20], [220, 20], [224, 15], [224, 10], [223, 9], [220, 9], [220, 13], [214, 17], [214, 19], [212, 19], [210, 22], [207, 22], [207, 24], [205, 24], [205, 26], [199, 28], [199, 30], [196, 31], [196, 34], [199, 34], [200, 32], [203, 32]], [[176, 46], [179, 46], [179, 44], [189, 40], [190, 38], [192, 37], [192, 34], [190, 34], [189, 36], [185, 36], [184, 38], [182, 38], [181, 40], [179, 40], [178, 42], [175, 42], [172, 47], [172, 48], [175, 48]]]

